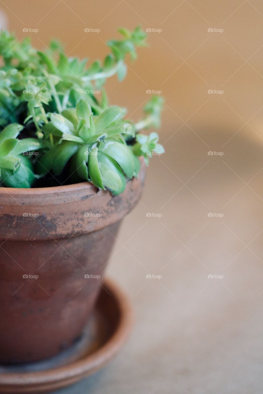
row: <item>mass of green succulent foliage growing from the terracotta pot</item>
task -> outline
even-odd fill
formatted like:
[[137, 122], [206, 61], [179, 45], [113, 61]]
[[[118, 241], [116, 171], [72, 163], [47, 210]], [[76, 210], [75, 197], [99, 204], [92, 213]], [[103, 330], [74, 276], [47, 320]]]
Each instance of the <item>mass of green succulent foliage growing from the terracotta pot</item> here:
[[[143, 156], [162, 153], [158, 135], [138, 134], [160, 126], [163, 100], [152, 97], [145, 118], [125, 119], [126, 110], [109, 106], [105, 80], [126, 76], [126, 56], [135, 59], [146, 33], [119, 29], [121, 40], [107, 43], [111, 53], [103, 63], [68, 58], [52, 41], [43, 52], [29, 39], [17, 41], [0, 33], [0, 183], [29, 188], [91, 181], [113, 194], [122, 193], [136, 177]], [[101, 89], [101, 95], [97, 93]]]

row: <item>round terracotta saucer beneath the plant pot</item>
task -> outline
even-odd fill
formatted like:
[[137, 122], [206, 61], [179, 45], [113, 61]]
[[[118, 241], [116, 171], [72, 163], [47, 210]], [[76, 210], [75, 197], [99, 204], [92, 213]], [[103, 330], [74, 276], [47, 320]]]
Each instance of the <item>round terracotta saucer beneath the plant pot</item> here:
[[82, 337], [70, 349], [40, 362], [0, 365], [0, 393], [44, 393], [102, 368], [124, 344], [132, 323], [130, 301], [107, 279]]

